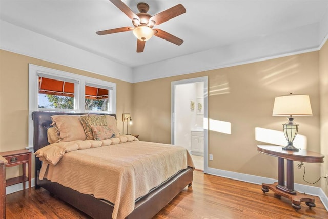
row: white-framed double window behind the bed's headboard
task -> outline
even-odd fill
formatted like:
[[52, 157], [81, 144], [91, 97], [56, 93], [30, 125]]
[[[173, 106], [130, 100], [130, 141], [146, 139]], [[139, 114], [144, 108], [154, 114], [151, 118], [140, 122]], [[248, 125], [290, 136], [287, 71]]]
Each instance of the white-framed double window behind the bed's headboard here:
[[29, 146], [33, 111], [116, 113], [116, 84], [29, 64]]

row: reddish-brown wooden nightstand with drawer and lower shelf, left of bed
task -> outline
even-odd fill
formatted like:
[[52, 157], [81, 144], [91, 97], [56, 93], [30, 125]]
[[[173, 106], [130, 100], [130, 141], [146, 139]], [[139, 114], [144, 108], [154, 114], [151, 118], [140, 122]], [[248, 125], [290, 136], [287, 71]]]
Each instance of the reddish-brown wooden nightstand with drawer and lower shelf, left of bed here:
[[[23, 183], [23, 189], [25, 190], [25, 182], [29, 182], [29, 196], [31, 196], [31, 167], [32, 167], [32, 152], [29, 150], [16, 150], [1, 152], [0, 156], [4, 157], [8, 163], [6, 167], [13, 167], [22, 164], [23, 175], [6, 180], [6, 186], [11, 186], [17, 183]], [[28, 177], [26, 176], [26, 164], [28, 164]]]

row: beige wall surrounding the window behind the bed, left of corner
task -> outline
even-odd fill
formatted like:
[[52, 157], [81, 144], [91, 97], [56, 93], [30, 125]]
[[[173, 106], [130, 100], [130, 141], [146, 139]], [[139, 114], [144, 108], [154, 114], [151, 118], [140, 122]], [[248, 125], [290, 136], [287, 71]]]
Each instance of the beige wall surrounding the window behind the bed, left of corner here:
[[[116, 83], [117, 121], [119, 129], [122, 130], [122, 113], [132, 112], [131, 83], [0, 50], [0, 152], [24, 149], [28, 144], [29, 63]], [[7, 168], [7, 178], [18, 175], [18, 169], [21, 168]]]

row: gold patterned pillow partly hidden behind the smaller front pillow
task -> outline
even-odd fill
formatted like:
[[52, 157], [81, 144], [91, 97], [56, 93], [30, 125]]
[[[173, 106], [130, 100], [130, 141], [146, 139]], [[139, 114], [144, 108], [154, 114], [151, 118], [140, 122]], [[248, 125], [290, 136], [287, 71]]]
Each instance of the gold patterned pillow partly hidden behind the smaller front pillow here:
[[93, 131], [91, 126], [107, 126], [106, 115], [81, 115], [80, 117], [85, 134], [87, 135], [87, 140], [93, 140]]

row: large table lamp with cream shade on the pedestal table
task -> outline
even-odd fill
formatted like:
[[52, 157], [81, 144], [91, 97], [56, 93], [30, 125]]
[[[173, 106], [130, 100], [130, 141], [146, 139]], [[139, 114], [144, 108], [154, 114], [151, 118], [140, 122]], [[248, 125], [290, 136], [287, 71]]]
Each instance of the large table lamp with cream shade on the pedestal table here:
[[275, 98], [273, 106], [273, 116], [289, 116], [288, 122], [283, 124], [283, 133], [288, 144], [283, 150], [298, 151], [293, 145], [293, 141], [298, 132], [298, 124], [294, 122], [294, 116], [312, 115], [310, 98], [308, 95], [292, 94], [278, 96]]

